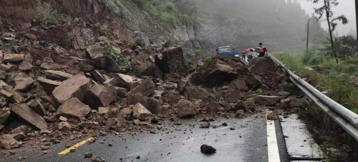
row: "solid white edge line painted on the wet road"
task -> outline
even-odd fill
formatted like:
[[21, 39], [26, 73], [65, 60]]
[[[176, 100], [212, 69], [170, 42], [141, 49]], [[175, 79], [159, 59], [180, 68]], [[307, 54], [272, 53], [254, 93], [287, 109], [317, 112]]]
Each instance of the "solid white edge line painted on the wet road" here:
[[274, 120], [268, 120], [266, 117], [266, 123], [267, 123], [267, 150], [269, 154], [268, 161], [279, 162], [280, 154], [278, 152], [278, 146], [276, 140], [275, 122]]

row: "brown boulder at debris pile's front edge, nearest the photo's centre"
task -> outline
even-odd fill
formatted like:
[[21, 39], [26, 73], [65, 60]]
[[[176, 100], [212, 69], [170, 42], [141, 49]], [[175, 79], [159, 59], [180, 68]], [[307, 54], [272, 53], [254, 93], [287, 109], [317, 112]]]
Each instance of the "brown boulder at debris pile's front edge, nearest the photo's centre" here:
[[178, 102], [177, 108], [178, 108], [178, 115], [181, 118], [192, 117], [199, 113], [197, 106], [195, 106], [193, 103], [185, 99], [182, 99]]

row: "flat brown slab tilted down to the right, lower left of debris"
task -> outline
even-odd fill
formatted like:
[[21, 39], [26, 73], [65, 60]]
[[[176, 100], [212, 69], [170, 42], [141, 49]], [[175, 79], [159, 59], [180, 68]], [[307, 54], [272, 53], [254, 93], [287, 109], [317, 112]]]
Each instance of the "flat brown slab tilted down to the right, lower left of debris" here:
[[11, 108], [11, 111], [26, 120], [30, 124], [36, 126], [39, 129], [47, 129], [47, 123], [38, 113], [32, 110], [28, 105], [21, 104]]

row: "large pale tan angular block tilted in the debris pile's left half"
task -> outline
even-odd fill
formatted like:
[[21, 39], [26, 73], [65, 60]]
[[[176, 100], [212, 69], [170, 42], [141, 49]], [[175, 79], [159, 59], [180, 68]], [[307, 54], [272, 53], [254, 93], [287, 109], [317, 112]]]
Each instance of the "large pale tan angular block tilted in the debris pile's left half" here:
[[63, 81], [52, 91], [52, 94], [59, 103], [64, 103], [71, 98], [77, 98], [79, 101], [83, 101], [89, 89], [89, 85], [90, 79], [84, 75], [75, 75]]

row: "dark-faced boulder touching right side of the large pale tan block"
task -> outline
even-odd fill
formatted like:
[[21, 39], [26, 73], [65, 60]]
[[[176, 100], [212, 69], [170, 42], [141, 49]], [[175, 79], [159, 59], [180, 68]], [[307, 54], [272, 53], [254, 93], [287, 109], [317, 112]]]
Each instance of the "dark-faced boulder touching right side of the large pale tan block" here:
[[115, 100], [115, 96], [106, 86], [97, 84], [91, 87], [86, 94], [85, 103], [92, 109], [108, 107]]

